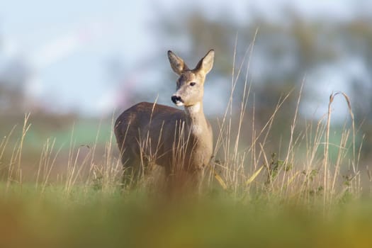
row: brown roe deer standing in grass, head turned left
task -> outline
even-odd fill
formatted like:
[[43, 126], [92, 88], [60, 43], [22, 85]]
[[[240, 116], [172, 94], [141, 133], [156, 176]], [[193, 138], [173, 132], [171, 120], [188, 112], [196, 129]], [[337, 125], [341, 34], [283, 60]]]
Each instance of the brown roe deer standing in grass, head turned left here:
[[171, 176], [184, 171], [200, 185], [213, 152], [212, 129], [203, 113], [203, 90], [214, 51], [210, 50], [195, 69], [188, 69], [171, 51], [168, 58], [171, 69], [179, 75], [171, 101], [184, 106], [184, 111], [142, 102], [118, 117], [114, 131], [125, 170], [123, 180], [132, 176], [135, 184], [145, 166], [152, 163], [164, 167], [167, 180], [177, 180]]

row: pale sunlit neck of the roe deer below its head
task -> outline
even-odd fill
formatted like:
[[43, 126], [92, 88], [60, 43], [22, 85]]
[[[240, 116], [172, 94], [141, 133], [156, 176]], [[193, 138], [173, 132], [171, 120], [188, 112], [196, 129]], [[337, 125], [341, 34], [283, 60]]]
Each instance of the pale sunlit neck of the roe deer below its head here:
[[203, 103], [198, 102], [193, 106], [185, 106], [186, 124], [190, 128], [191, 134], [201, 136], [208, 131], [207, 120], [203, 112]]

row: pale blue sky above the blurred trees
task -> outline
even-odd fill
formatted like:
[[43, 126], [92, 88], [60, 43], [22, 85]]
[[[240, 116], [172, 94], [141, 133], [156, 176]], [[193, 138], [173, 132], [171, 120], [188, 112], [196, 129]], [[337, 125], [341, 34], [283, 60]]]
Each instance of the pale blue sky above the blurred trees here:
[[[159, 13], [176, 17], [177, 11], [198, 8], [210, 18], [220, 18], [223, 11], [236, 21], [249, 21], [249, 9], [258, 9], [270, 18], [281, 18], [278, 6], [289, 3], [310, 18], [329, 17], [332, 13], [337, 20], [352, 18], [361, 11], [363, 3], [368, 5], [368, 1], [360, 1], [359, 5], [353, 2], [1, 1], [0, 69], [13, 60], [22, 60], [30, 70], [26, 89], [31, 98], [41, 99], [55, 111], [101, 115], [111, 113], [117, 105], [117, 85], [108, 77], [107, 60], [116, 55], [123, 57], [126, 71], [134, 74], [136, 81], [156, 81], [161, 78], [155, 71], [157, 67], [141, 68], [138, 73], [138, 64], [180, 46], [171, 40], [157, 43], [159, 39], [152, 23]], [[328, 88], [332, 85], [329, 83]]]

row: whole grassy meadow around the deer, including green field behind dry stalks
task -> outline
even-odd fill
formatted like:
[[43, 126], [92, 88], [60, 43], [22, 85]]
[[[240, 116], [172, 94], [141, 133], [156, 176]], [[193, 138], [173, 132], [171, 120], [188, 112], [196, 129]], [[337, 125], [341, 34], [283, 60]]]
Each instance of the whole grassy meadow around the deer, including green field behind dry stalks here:
[[[0, 247], [371, 247], [371, 173], [349, 97], [336, 92], [323, 118], [301, 120], [302, 84], [258, 124], [248, 68], [243, 60], [232, 73], [226, 111], [212, 120], [202, 193], [162, 193], [161, 168], [123, 188], [114, 117], [60, 132], [33, 115], [16, 119], [0, 140]], [[293, 94], [291, 125], [274, 142]], [[335, 97], [350, 113], [336, 127]]]

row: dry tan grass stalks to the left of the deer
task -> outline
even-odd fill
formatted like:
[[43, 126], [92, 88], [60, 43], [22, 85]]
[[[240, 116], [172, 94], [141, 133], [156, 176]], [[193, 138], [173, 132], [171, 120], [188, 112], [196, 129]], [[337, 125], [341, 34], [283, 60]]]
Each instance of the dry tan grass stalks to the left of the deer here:
[[[23, 151], [29, 148], [24, 147], [24, 140], [31, 126], [28, 123], [29, 118], [30, 114], [26, 114], [20, 134], [15, 133], [15, 125], [0, 142], [3, 193], [21, 189], [25, 185], [28, 189], [34, 188], [35, 192], [40, 194], [45, 193], [50, 187], [57, 187], [59, 193], [64, 196], [69, 196], [77, 190], [86, 193], [91, 190], [114, 193], [118, 190], [123, 171], [115, 156], [117, 152], [115, 152], [116, 147], [113, 147], [115, 144], [113, 132], [105, 142], [103, 151], [101, 147], [98, 149], [98, 146], [101, 146], [98, 142], [100, 128], [96, 134], [96, 142], [92, 146], [77, 144], [74, 138], [74, 128], [72, 128], [67, 154], [62, 152], [63, 145], [56, 146], [55, 137], [47, 138], [32, 171], [30, 162], [23, 159]], [[18, 137], [17, 135], [19, 138], [16, 142], [11, 142], [14, 140], [12, 137]], [[6, 155], [9, 151], [11, 151], [10, 157]]]

